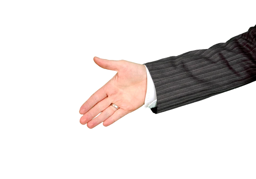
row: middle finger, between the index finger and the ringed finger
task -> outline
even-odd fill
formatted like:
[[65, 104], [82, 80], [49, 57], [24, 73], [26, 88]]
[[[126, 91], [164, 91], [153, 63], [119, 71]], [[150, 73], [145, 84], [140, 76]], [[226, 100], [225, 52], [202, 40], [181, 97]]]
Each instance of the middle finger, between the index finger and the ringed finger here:
[[102, 101], [94, 105], [87, 113], [85, 113], [80, 118], [81, 124], [87, 124], [90, 120], [92, 120], [95, 116], [100, 114], [102, 111], [104, 111], [106, 108], [108, 108], [111, 105], [111, 102], [109, 102], [108, 97], [104, 98]]

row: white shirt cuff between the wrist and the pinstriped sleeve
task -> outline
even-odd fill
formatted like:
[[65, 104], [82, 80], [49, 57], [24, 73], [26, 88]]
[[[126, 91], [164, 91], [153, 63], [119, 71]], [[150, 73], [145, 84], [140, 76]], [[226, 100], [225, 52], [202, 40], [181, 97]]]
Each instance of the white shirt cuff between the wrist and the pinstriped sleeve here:
[[146, 92], [144, 108], [154, 108], [157, 106], [155, 85], [146, 65], [145, 67], [147, 70], [147, 92]]

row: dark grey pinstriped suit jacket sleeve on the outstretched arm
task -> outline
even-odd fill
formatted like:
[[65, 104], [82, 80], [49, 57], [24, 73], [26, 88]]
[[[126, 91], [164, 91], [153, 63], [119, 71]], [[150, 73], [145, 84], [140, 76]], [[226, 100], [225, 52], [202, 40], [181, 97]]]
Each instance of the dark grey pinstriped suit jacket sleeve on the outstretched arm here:
[[151, 111], [166, 112], [255, 81], [255, 27], [208, 49], [144, 63], [156, 90]]

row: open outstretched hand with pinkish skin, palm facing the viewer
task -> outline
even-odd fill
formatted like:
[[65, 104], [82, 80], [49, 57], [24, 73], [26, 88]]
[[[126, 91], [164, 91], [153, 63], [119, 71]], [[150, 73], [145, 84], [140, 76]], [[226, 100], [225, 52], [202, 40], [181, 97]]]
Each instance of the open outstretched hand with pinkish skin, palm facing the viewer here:
[[[147, 91], [147, 72], [143, 64], [126, 60], [108, 60], [94, 57], [100, 67], [117, 71], [113, 78], [81, 106], [81, 124], [92, 129], [103, 122], [107, 127], [144, 105]], [[119, 107], [110, 106], [114, 103]], [[97, 116], [100, 114], [99, 116]], [[97, 116], [96, 118], [94, 118]]]

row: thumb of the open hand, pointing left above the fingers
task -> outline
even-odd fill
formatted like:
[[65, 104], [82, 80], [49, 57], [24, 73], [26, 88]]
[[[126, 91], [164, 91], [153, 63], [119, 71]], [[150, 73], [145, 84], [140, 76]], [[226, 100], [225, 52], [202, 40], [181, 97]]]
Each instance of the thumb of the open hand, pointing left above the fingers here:
[[100, 67], [112, 71], [117, 71], [120, 67], [119, 60], [108, 60], [94, 56], [93, 61]]

